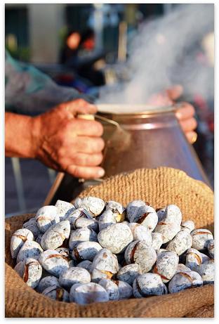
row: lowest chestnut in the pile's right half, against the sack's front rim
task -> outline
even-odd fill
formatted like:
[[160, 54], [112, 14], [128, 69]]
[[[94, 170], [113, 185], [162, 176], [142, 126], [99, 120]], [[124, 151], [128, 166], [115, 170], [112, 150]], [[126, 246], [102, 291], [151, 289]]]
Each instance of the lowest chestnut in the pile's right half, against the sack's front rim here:
[[135, 298], [166, 293], [166, 286], [157, 273], [143, 273], [133, 282], [133, 294]]

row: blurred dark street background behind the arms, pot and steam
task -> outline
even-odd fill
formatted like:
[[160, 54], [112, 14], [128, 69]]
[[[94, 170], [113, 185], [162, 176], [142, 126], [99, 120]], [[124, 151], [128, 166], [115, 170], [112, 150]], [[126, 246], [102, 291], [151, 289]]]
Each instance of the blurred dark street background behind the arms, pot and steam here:
[[[133, 41], [139, 34], [147, 32], [147, 24], [151, 26], [154, 20], [165, 18], [178, 6], [6, 4], [5, 46], [13, 58], [32, 63], [56, 84], [98, 98], [106, 88], [129, 79], [130, 70], [126, 62], [131, 57]], [[194, 22], [194, 15], [192, 20]], [[199, 42], [193, 42], [192, 51], [195, 53], [196, 69], [204, 67], [213, 82], [212, 24], [210, 29], [203, 27], [197, 33]], [[174, 30], [173, 25], [171, 30]], [[157, 30], [155, 35], [158, 43], [166, 41], [161, 31]], [[187, 56], [186, 52], [184, 56]], [[190, 70], [190, 65], [185, 65], [180, 76], [186, 69]], [[197, 79], [203, 77], [206, 84], [205, 76], [201, 74]], [[171, 81], [184, 86], [187, 91], [181, 99], [190, 101], [196, 108], [199, 126], [194, 148], [213, 186], [213, 89], [202, 91], [203, 86], [196, 86], [194, 82], [193, 86], [188, 86], [186, 78], [178, 77]], [[39, 112], [40, 108], [34, 112], [20, 111], [29, 115]], [[44, 203], [56, 176], [55, 171], [36, 160], [6, 157], [5, 170], [6, 216], [38, 209]]]

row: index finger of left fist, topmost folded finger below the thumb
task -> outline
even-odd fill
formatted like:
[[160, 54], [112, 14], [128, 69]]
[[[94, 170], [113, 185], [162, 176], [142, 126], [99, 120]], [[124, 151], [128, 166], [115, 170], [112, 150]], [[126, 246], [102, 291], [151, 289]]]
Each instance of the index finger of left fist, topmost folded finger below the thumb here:
[[86, 119], [72, 119], [66, 125], [66, 131], [74, 132], [79, 136], [95, 136], [100, 137], [103, 133], [103, 127], [100, 122]]

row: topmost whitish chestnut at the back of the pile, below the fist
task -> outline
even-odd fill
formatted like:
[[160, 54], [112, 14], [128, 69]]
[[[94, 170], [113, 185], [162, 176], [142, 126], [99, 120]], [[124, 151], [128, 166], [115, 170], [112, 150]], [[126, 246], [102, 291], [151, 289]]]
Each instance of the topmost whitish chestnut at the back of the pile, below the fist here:
[[97, 197], [77, 198], [74, 200], [74, 206], [86, 209], [93, 217], [98, 216], [105, 209], [105, 202]]

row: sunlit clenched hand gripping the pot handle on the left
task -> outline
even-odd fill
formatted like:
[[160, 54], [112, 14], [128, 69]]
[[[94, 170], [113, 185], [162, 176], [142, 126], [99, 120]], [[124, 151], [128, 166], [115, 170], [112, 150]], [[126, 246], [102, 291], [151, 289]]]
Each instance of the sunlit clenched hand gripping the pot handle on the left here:
[[72, 176], [95, 179], [104, 175], [102, 161], [103, 128], [95, 120], [78, 119], [78, 114], [95, 114], [95, 105], [83, 99], [62, 103], [34, 117], [35, 157], [48, 167]]

